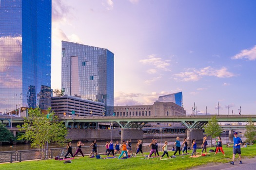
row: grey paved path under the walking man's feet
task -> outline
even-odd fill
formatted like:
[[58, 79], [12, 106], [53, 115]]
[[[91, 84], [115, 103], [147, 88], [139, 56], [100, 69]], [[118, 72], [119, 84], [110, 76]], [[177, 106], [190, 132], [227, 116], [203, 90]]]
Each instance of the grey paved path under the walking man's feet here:
[[220, 163], [217, 165], [204, 165], [203, 167], [195, 167], [191, 170], [256, 170], [256, 157], [254, 158], [242, 158], [242, 164], [239, 164], [239, 158], [234, 161], [235, 165], [230, 163]]

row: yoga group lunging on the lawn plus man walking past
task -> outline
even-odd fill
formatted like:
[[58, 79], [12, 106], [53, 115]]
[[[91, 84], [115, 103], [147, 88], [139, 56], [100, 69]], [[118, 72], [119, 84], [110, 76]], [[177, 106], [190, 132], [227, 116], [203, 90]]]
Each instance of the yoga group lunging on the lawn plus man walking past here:
[[[203, 155], [205, 152], [205, 154], [207, 154], [207, 145], [208, 145], [208, 142], [207, 142], [207, 136], [204, 136], [203, 137], [203, 143], [201, 145], [201, 148], [202, 148], [202, 151], [201, 151], [201, 155]], [[175, 150], [175, 153], [173, 156], [171, 157], [175, 157], [176, 153], [178, 152], [179, 155], [180, 155], [180, 152], [181, 152], [181, 146], [183, 146], [183, 151], [182, 151], [182, 154], [184, 154], [184, 152], [186, 154], [188, 154], [187, 150], [188, 150], [188, 142], [187, 142], [187, 138], [184, 138], [182, 144], [180, 144], [180, 141], [179, 141], [179, 137], [177, 136], [176, 138], [176, 141], [174, 143], [175, 147], [176, 147], [176, 150]], [[241, 161], [241, 150], [240, 150], [240, 145], [242, 145], [242, 141], [240, 139], [240, 137], [237, 136], [237, 132], [234, 133], [234, 148], [233, 148], [233, 158], [232, 158], [232, 161], [230, 162], [231, 164], [234, 165], [234, 159], [235, 159], [235, 155], [236, 153], [239, 155], [239, 164], [242, 163]], [[67, 153], [66, 155], [64, 156], [64, 158], [67, 157], [67, 155], [70, 153], [71, 156], [74, 158], [78, 153], [81, 153], [81, 155], [84, 157], [83, 153], [82, 153], [82, 150], [81, 150], [81, 146], [84, 146], [84, 144], [79, 141], [77, 143], [77, 146], [78, 146], [78, 150], [76, 151], [76, 153], [73, 155], [72, 153], [72, 146], [71, 146], [71, 142], [68, 142], [67, 143]], [[97, 143], [96, 143], [96, 140], [93, 141], [92, 144], [90, 144], [90, 147], [92, 147], [92, 151], [91, 153], [89, 154], [89, 158], [91, 157], [91, 155], [93, 153], [96, 153], [96, 155], [98, 154], [97, 153]], [[155, 157], [157, 157], [157, 155], [159, 156], [159, 153], [158, 153], [158, 140], [153, 138], [152, 139], [152, 142], [148, 145], [149, 149], [150, 149], [150, 153], [149, 155], [147, 156], [147, 159], [151, 158], [152, 154], [154, 153], [155, 154]], [[170, 159], [170, 156], [169, 156], [169, 153], [168, 153], [168, 141], [164, 141], [164, 145], [162, 146], [162, 150], [163, 150], [163, 154], [160, 156], [160, 159], [162, 159], [162, 157], [166, 154], [167, 157]], [[122, 144], [120, 145], [119, 144], [119, 141], [117, 140], [116, 143], [114, 144], [113, 143], [113, 140], [110, 140], [110, 142], [107, 142], [106, 145], [105, 145], [105, 148], [106, 148], [106, 152], [105, 154], [107, 155], [106, 158], [108, 158], [109, 154], [112, 153], [113, 157], [115, 157], [115, 154], [116, 153], [119, 153], [120, 155], [118, 156], [118, 159], [120, 159], [122, 156], [128, 158], [129, 156], [133, 156], [133, 152], [132, 152], [132, 140], [129, 139], [127, 141], [123, 140], [122, 141]], [[144, 153], [142, 151], [142, 140], [139, 139], [137, 144], [136, 144], [136, 153], [134, 155], [134, 157], [136, 157], [136, 155], [138, 153], [141, 153], [143, 156]], [[223, 155], [225, 156], [225, 153], [223, 151], [223, 148], [222, 148], [222, 140], [221, 140], [221, 137], [218, 136], [217, 140], [216, 140], [216, 149], [215, 149], [215, 154], [217, 154], [217, 152], [221, 152], [223, 153]], [[196, 139], [193, 139], [192, 140], [192, 153], [191, 153], [191, 156], [197, 156], [196, 155], [197, 153], [197, 142], [196, 142]]]

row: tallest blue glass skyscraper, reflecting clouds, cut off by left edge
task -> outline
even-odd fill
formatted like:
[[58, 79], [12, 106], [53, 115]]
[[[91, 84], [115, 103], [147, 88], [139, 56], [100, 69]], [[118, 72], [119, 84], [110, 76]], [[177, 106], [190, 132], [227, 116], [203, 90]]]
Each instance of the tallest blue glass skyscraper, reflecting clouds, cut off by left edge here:
[[51, 106], [51, 0], [0, 0], [0, 112]]

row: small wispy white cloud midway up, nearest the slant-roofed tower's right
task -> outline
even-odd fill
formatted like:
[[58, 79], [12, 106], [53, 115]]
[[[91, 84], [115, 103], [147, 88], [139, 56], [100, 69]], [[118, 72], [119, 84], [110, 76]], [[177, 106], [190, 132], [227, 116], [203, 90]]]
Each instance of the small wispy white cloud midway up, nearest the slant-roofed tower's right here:
[[148, 56], [148, 59], [139, 60], [140, 63], [144, 65], [152, 65], [155, 69], [171, 71], [168, 66], [170, 66], [170, 60], [162, 60], [160, 57], [156, 57], [156, 55], [152, 54]]

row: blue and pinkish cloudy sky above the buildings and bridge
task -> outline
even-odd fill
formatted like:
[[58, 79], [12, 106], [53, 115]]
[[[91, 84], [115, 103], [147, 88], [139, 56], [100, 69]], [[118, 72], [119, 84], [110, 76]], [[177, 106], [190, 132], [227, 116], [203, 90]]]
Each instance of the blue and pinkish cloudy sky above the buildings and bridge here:
[[[52, 88], [61, 40], [115, 54], [114, 105], [182, 91], [190, 115], [256, 114], [256, 0], [52, 0]], [[219, 104], [218, 104], [219, 103]], [[218, 108], [218, 109], [217, 109]]]

